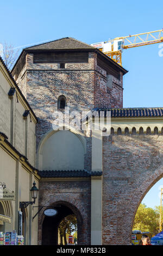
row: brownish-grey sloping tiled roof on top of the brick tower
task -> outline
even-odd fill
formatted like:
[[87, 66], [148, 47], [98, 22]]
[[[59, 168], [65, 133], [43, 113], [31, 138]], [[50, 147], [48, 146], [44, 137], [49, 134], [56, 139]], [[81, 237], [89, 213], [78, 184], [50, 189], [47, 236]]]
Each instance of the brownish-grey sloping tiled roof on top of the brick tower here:
[[25, 48], [25, 50], [74, 50], [74, 49], [93, 49], [95, 47], [78, 41], [74, 38], [66, 37], [58, 40], [45, 42], [43, 44], [34, 45]]

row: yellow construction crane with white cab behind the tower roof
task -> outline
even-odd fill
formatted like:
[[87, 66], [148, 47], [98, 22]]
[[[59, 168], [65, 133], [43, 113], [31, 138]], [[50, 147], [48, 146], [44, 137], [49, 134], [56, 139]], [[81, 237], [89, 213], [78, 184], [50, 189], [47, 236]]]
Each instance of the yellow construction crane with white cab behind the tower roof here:
[[163, 29], [136, 35], [121, 36], [105, 42], [97, 42], [91, 44], [99, 48], [116, 63], [122, 66], [122, 51], [123, 49], [151, 45], [163, 42]]

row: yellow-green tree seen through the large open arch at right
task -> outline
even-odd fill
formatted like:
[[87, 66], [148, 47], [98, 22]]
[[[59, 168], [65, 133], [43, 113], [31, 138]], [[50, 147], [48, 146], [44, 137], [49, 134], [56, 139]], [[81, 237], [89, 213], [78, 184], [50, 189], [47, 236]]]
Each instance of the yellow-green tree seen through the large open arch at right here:
[[152, 208], [147, 208], [145, 204], [140, 204], [137, 209], [133, 230], [149, 231], [153, 235], [159, 233], [159, 215]]

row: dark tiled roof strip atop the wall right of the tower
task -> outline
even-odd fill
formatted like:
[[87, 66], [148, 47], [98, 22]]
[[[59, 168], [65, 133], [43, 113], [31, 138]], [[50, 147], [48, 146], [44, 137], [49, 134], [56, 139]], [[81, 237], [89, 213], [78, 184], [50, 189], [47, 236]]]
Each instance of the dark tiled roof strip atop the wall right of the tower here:
[[111, 117], [163, 117], [163, 107], [154, 108], [94, 108], [93, 111], [111, 111]]

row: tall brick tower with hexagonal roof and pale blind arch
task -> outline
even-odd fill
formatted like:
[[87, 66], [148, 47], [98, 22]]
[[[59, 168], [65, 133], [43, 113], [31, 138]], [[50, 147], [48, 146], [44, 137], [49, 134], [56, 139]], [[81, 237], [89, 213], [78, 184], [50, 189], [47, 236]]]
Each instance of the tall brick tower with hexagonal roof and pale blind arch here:
[[[72, 212], [76, 214], [78, 244], [96, 244], [97, 234], [102, 235], [101, 221], [96, 223], [99, 212], [91, 209], [97, 199], [101, 211], [98, 197], [101, 196], [102, 172], [101, 167], [96, 169], [96, 164], [92, 165], [92, 156], [93, 161], [98, 159], [97, 153], [92, 153], [91, 135], [77, 131], [54, 132], [53, 113], [64, 112], [65, 107], [69, 107], [70, 112], [122, 108], [123, 75], [126, 73], [127, 70], [97, 48], [73, 38], [25, 48], [12, 69], [12, 75], [38, 118], [39, 203], [61, 204], [62, 217]], [[45, 187], [48, 187], [48, 197]], [[61, 219], [54, 220], [55, 227], [59, 221]], [[48, 243], [49, 229], [51, 223], [40, 211], [39, 244]], [[52, 233], [57, 243], [57, 230]]]

